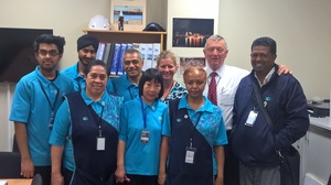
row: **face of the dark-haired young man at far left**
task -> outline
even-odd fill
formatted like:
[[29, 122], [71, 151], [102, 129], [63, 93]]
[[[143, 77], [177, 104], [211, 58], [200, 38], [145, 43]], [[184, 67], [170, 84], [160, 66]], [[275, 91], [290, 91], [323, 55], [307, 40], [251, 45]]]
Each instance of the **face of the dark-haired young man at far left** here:
[[40, 66], [41, 73], [53, 72], [62, 58], [62, 54], [58, 53], [57, 46], [55, 44], [39, 44], [39, 50], [34, 54], [38, 64]]

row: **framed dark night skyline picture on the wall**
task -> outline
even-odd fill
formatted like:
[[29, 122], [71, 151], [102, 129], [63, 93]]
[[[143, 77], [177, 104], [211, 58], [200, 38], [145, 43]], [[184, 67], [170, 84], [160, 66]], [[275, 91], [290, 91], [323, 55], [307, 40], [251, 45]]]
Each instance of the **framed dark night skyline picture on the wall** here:
[[173, 18], [172, 28], [173, 47], [204, 47], [214, 34], [214, 20]]

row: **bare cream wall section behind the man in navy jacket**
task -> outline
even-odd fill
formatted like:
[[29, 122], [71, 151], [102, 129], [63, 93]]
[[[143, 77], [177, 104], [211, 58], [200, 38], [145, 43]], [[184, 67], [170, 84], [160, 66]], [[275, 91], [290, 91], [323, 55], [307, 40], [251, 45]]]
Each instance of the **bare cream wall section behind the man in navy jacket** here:
[[330, 98], [330, 0], [221, 0], [220, 29], [229, 47], [227, 64], [250, 69], [252, 42], [270, 36], [277, 63], [289, 66], [306, 96]]

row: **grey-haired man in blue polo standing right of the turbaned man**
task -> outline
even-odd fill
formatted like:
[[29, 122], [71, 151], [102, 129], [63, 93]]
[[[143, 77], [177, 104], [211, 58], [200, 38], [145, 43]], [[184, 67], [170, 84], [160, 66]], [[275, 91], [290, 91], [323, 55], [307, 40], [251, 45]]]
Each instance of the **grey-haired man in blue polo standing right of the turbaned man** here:
[[124, 101], [135, 99], [139, 96], [139, 80], [142, 75], [143, 61], [139, 51], [130, 48], [127, 50], [122, 66], [126, 74], [119, 76], [118, 78], [113, 78], [114, 91], [115, 94], [122, 96]]

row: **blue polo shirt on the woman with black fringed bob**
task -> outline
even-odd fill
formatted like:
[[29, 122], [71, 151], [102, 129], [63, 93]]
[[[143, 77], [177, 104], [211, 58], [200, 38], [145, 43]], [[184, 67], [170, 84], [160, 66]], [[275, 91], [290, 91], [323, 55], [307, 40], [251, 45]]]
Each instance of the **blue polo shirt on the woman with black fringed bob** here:
[[[168, 106], [159, 100], [151, 105], [142, 101], [142, 109], [140, 97], [125, 102], [119, 140], [126, 142], [127, 174], [158, 175], [162, 124], [167, 115]], [[150, 134], [148, 143], [142, 143], [140, 140], [142, 131], [148, 131]]]

